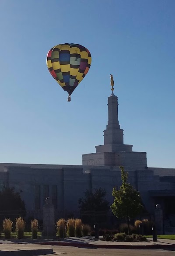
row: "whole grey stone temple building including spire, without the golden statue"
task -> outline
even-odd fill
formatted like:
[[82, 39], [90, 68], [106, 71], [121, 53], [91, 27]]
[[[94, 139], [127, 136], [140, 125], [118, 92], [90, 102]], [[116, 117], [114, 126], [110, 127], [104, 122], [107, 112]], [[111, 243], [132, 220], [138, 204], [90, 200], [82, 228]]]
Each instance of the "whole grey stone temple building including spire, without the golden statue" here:
[[149, 168], [145, 152], [133, 152], [133, 145], [123, 143], [118, 98], [113, 92], [108, 97], [108, 115], [104, 144], [96, 146], [95, 153], [84, 154], [82, 165], [0, 163], [1, 185], [7, 183], [21, 189], [27, 210], [42, 209], [45, 198], [50, 197], [55, 209], [76, 211], [78, 199], [87, 189], [106, 189], [107, 200], [112, 203], [112, 189], [119, 189], [122, 183], [119, 165], [123, 165], [147, 210], [154, 213], [160, 196], [175, 196], [175, 169]]

